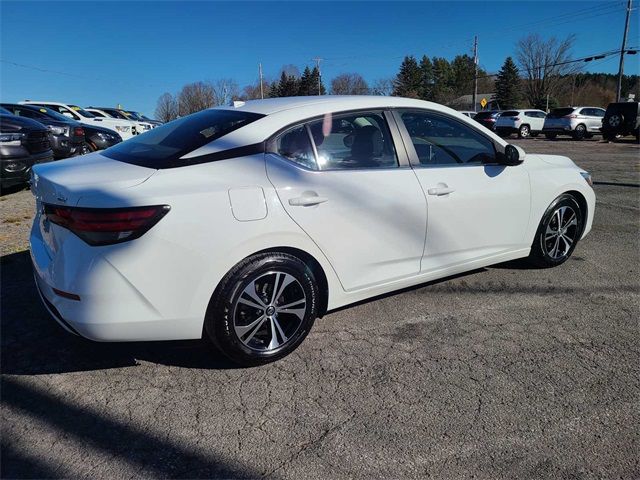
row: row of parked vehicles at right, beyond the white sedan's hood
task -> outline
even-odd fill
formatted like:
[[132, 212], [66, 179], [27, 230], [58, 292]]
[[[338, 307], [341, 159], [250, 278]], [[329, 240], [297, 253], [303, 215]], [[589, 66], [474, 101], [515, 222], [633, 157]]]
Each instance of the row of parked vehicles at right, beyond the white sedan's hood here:
[[548, 114], [536, 109], [485, 110], [470, 115], [460, 112], [501, 136], [517, 134], [520, 138], [544, 134], [548, 139], [559, 135], [575, 140], [602, 135], [606, 140], [635, 135], [640, 138], [638, 102], [611, 103], [600, 107], [562, 107]]

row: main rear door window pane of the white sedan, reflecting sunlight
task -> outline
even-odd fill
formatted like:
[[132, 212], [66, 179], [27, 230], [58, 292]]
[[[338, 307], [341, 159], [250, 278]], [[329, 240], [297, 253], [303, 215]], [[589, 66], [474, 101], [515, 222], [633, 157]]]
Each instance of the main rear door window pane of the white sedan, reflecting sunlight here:
[[398, 166], [391, 132], [382, 112], [327, 114], [309, 124], [320, 170]]

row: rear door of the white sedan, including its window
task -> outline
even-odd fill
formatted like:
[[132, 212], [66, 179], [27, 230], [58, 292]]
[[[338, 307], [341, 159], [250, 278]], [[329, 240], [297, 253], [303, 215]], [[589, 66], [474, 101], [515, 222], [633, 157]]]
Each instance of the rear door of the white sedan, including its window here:
[[[391, 124], [393, 128], [393, 123]], [[416, 275], [426, 201], [383, 111], [328, 114], [269, 142], [267, 174], [345, 290]]]

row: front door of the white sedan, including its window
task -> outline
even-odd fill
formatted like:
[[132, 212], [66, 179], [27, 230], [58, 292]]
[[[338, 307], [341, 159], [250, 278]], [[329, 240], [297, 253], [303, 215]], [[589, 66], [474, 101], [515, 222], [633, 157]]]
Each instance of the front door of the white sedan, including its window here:
[[529, 224], [529, 175], [496, 164], [492, 140], [461, 120], [399, 110], [409, 159], [427, 194], [422, 272], [521, 249]]

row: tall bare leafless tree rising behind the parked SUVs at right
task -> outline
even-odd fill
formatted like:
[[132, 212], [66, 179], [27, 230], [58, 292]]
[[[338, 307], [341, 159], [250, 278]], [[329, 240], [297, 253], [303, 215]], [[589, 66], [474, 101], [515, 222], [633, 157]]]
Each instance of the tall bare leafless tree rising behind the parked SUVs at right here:
[[562, 76], [580, 70], [579, 64], [567, 63], [574, 40], [573, 35], [560, 41], [555, 37], [543, 40], [533, 34], [518, 42], [518, 63], [525, 77], [525, 96], [531, 106], [544, 108], [547, 95], [555, 94], [562, 84]]

